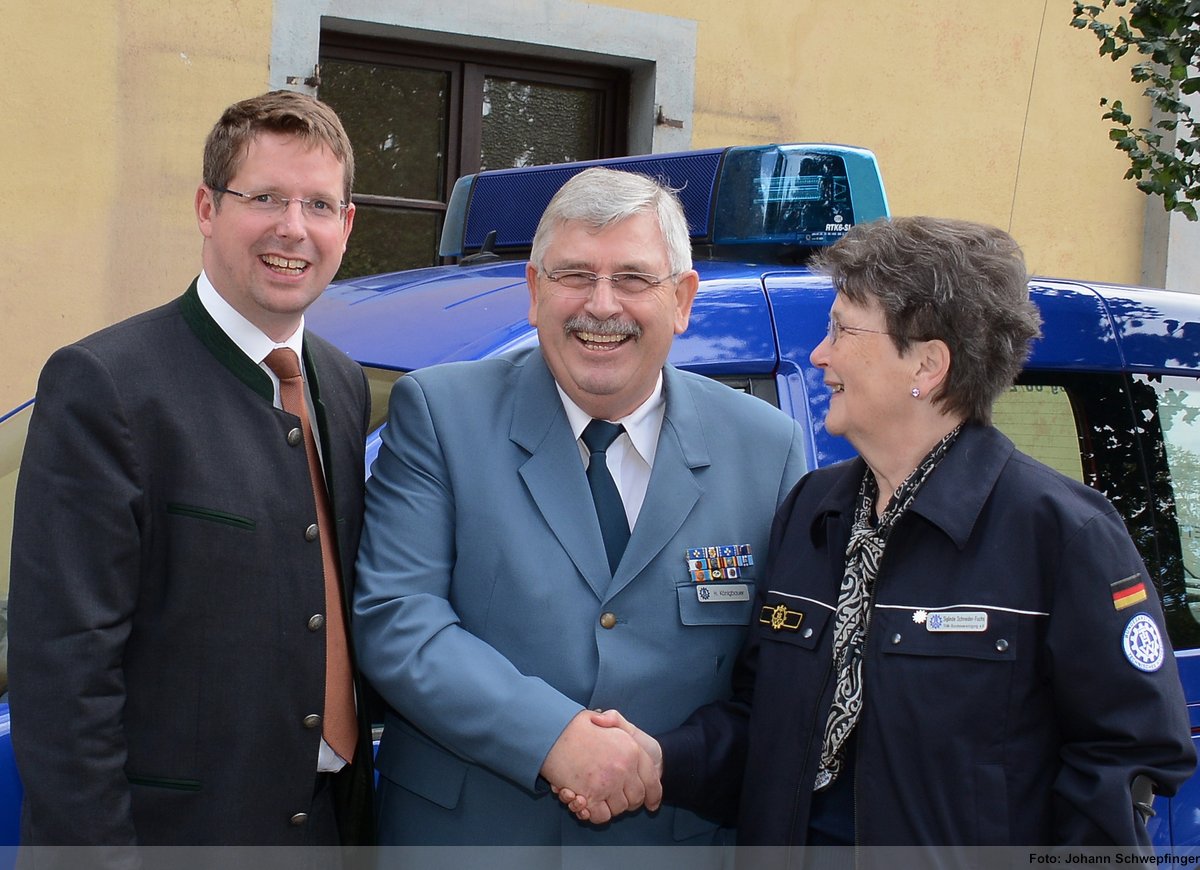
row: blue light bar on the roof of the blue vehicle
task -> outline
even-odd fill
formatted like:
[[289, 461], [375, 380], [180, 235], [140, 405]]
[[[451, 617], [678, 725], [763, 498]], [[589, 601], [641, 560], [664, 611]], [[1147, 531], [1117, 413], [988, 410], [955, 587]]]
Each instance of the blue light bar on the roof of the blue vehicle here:
[[853, 224], [888, 215], [878, 164], [865, 149], [709, 149], [464, 175], [450, 196], [439, 253], [479, 251], [492, 232], [498, 251], [528, 248], [551, 197], [593, 166], [641, 173], [677, 190], [694, 244], [830, 245]]

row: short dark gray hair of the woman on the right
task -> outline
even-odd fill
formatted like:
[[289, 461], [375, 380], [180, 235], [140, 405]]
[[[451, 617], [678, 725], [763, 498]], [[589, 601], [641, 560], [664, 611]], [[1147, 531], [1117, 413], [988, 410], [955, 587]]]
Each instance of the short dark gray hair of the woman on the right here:
[[856, 305], [875, 301], [900, 353], [940, 338], [950, 371], [934, 402], [990, 424], [1042, 334], [1025, 257], [1002, 229], [938, 217], [898, 217], [853, 227], [812, 268]]

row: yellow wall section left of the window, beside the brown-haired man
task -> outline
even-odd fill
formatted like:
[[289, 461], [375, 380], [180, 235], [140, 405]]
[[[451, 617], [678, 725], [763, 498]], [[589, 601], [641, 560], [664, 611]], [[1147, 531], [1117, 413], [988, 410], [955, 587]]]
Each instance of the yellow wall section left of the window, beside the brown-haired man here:
[[0, 413], [199, 271], [204, 136], [266, 89], [270, 24], [270, 0], [0, 0]]

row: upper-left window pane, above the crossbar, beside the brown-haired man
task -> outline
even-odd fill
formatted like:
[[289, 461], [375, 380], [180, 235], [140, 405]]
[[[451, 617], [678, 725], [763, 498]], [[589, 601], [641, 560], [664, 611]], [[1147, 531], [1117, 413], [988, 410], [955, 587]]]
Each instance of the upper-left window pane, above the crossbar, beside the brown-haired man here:
[[450, 74], [325, 60], [320, 98], [354, 145], [354, 190], [444, 200]]

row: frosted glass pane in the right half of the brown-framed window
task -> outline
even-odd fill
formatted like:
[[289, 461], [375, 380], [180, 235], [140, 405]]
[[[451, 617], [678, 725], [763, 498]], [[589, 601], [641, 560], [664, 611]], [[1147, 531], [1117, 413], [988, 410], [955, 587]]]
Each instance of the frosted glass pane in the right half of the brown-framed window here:
[[595, 90], [486, 77], [480, 168], [601, 156], [600, 102]]

